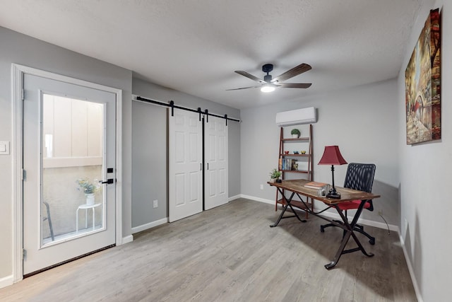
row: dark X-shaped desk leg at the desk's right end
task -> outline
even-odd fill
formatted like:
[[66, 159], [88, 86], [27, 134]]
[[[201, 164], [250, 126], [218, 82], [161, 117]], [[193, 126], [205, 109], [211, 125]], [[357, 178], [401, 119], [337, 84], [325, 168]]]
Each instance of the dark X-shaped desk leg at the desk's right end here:
[[[366, 202], [362, 201], [361, 204], [359, 204], [359, 208], [357, 209], [357, 212], [355, 216], [353, 217], [352, 223], [348, 223], [347, 217], [343, 214], [343, 211], [339, 209], [338, 206], [335, 206], [336, 211], [338, 211], [338, 214], [340, 215], [340, 218], [343, 220], [343, 229], [345, 230], [345, 234], [343, 236], [342, 242], [340, 243], [340, 247], [338, 251], [336, 252], [336, 255], [334, 256], [334, 260], [328, 263], [328, 265], [325, 265], [326, 269], [331, 269], [335, 265], [338, 264], [340, 255], [347, 254], [349, 252], [357, 252], [358, 250], [361, 250], [361, 252], [366, 255], [367, 257], [372, 257], [374, 254], [366, 252], [364, 250], [362, 244], [359, 242], [357, 236], [355, 235], [355, 232], [353, 231], [355, 228], [355, 225], [359, 219], [359, 216], [361, 216], [362, 209], [364, 208], [364, 204]], [[347, 245], [348, 240], [350, 239], [350, 236], [353, 237], [353, 240], [355, 240], [355, 243], [358, 245], [357, 248], [351, 248], [349, 250], [345, 250], [345, 245]]]

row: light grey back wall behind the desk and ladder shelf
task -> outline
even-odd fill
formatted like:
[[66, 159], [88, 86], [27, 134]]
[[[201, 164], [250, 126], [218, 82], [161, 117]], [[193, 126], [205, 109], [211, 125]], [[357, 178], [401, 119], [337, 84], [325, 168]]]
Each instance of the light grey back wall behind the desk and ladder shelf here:
[[[319, 121], [313, 124], [314, 180], [331, 182], [331, 168], [317, 165], [324, 146], [338, 145], [349, 163], [375, 163], [372, 192], [381, 194], [381, 198], [374, 201], [375, 211], [364, 211], [362, 218], [383, 223], [376, 214], [381, 209], [388, 223], [398, 225], [396, 79], [242, 110], [242, 194], [275, 199], [273, 187], [264, 185], [260, 190], [260, 185], [266, 184], [268, 173], [278, 166], [280, 130], [275, 124], [276, 112], [312, 106], [318, 108], [319, 115]], [[343, 184], [346, 170], [347, 165], [335, 167], [335, 184]]]

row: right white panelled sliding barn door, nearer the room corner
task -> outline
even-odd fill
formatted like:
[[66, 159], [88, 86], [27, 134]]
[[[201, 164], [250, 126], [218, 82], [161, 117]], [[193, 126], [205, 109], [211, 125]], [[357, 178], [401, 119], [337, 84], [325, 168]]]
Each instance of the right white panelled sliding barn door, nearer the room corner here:
[[209, 117], [204, 126], [205, 209], [227, 203], [227, 126], [219, 117]]

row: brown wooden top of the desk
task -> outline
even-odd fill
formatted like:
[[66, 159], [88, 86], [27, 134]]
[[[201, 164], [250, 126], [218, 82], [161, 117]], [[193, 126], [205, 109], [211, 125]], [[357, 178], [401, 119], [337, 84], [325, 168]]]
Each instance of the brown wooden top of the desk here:
[[335, 187], [336, 191], [340, 192], [340, 199], [326, 198], [317, 195], [317, 189], [304, 187], [310, 180], [283, 180], [283, 182], [267, 182], [273, 187], [280, 187], [283, 190], [289, 190], [307, 197], [311, 197], [325, 204], [340, 204], [341, 202], [350, 202], [352, 200], [365, 200], [379, 198], [380, 195], [348, 189], [345, 187]]

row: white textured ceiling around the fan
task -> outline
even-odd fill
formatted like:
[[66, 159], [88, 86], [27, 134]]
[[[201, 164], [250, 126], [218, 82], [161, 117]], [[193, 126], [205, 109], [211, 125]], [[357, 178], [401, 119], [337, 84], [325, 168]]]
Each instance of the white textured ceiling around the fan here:
[[[397, 76], [419, 1], [0, 0], [0, 26], [249, 108]], [[287, 82], [312, 86], [226, 91], [255, 83], [234, 70], [263, 78], [266, 63], [273, 76], [310, 64]]]

